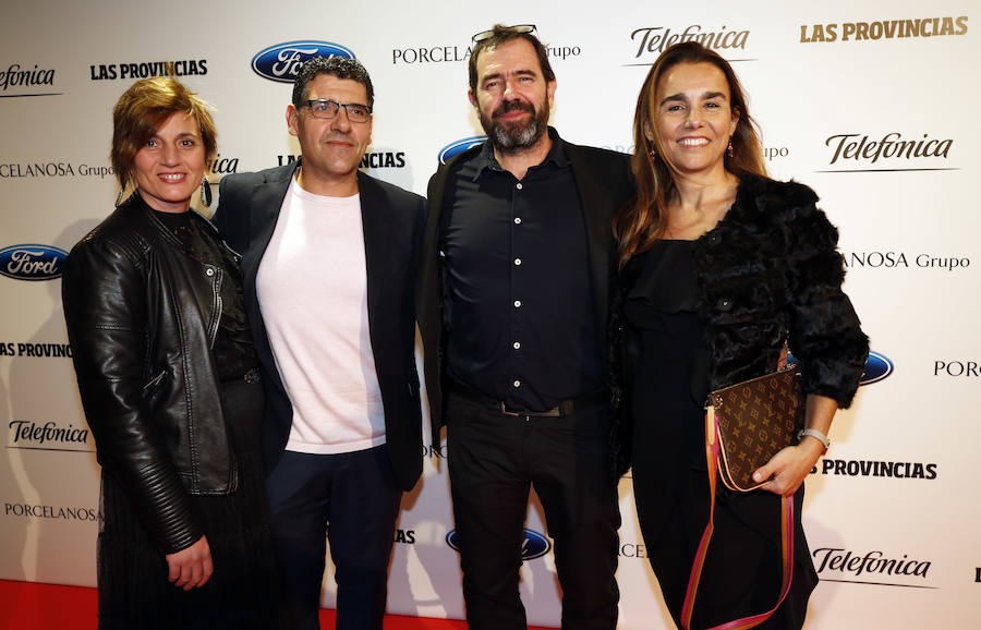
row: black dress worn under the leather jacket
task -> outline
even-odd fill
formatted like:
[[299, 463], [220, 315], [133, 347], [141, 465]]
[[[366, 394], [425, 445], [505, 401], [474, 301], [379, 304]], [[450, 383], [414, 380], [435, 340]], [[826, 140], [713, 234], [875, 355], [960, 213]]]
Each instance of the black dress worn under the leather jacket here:
[[185, 255], [225, 270], [219, 329], [214, 348], [202, 351], [214, 354], [221, 378], [221, 410], [239, 483], [228, 495], [189, 495], [210, 547], [214, 573], [204, 586], [183, 591], [167, 580], [164, 554], [119, 482], [104, 471], [99, 629], [286, 628], [259, 456], [263, 388], [253, 377], [258, 361], [245, 320], [241, 271], [203, 217], [193, 211], [155, 216], [182, 242]]

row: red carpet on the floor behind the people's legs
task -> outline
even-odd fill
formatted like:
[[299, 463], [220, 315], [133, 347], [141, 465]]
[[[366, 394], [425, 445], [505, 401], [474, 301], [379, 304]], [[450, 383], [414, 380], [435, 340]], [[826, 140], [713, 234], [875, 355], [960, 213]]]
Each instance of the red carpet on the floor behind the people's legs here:
[[[96, 630], [96, 590], [0, 580], [0, 630]], [[334, 628], [334, 610], [320, 610], [320, 628]], [[463, 621], [385, 617], [386, 630], [465, 630]], [[529, 630], [546, 630], [529, 627]]]

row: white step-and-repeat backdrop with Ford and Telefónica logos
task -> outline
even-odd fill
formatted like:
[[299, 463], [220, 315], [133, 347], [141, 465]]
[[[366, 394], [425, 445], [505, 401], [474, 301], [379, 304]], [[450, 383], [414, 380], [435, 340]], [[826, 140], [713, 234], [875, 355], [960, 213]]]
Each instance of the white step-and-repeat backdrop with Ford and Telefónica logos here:
[[[284, 113], [296, 65], [310, 54], [354, 56], [376, 88], [362, 167], [425, 194], [440, 159], [482, 140], [467, 62], [472, 34], [495, 22], [537, 26], [558, 80], [552, 124], [562, 136], [618, 152], [633, 149], [637, 93], [666, 46], [697, 39], [732, 62], [771, 173], [813, 187], [840, 228], [846, 290], [872, 339], [856, 403], [838, 414], [834, 444], [807, 482], [804, 526], [822, 580], [807, 627], [979, 627], [981, 13], [969, 0], [4, 8], [0, 579], [96, 580], [99, 470], [60, 270], [112, 209], [119, 95], [136, 78], [173, 72], [214, 104], [217, 183], [295, 159]], [[389, 610], [461, 618], [445, 446], [426, 444], [421, 455], [425, 475], [396, 533]], [[629, 475], [620, 507], [620, 628], [669, 628]], [[526, 528], [529, 620], [558, 626], [552, 542], [534, 504]]]

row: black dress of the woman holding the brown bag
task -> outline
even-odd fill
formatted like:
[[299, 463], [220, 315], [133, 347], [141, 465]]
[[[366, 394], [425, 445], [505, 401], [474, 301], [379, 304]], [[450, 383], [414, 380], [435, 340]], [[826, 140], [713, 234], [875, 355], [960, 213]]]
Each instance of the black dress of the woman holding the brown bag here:
[[[707, 353], [692, 263], [694, 241], [662, 240], [632, 264], [623, 314], [639, 340], [630, 400], [633, 493], [641, 533], [665, 603], [680, 626], [689, 573], [708, 519], [704, 450]], [[759, 628], [800, 628], [818, 582], [795, 496], [790, 593]], [[692, 628], [770, 610], [779, 595], [779, 497], [716, 490], [715, 533], [695, 598]]]

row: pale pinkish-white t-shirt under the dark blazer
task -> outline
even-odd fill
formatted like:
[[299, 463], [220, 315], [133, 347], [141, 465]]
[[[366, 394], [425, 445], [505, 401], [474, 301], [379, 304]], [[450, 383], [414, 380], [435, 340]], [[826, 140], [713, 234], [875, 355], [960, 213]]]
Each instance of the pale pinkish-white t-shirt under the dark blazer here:
[[293, 404], [287, 450], [338, 453], [384, 444], [360, 195], [315, 195], [294, 179], [259, 263], [256, 291]]

